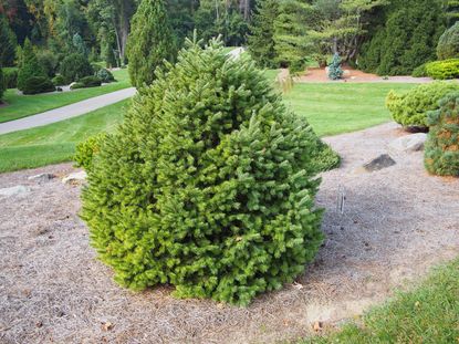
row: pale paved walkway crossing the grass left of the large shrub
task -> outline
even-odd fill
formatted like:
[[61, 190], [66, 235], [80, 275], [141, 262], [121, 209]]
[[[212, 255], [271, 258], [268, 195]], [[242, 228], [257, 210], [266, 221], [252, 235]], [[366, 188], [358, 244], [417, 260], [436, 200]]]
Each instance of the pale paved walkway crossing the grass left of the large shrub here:
[[77, 117], [101, 107], [127, 100], [134, 96], [137, 90], [135, 87], [124, 88], [63, 107], [50, 110], [38, 115], [0, 123], [0, 135]]

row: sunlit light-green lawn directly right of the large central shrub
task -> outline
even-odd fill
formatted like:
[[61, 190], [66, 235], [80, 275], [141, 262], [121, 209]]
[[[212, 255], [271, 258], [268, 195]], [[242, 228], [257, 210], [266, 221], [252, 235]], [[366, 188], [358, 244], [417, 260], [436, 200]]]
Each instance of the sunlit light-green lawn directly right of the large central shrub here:
[[326, 136], [390, 121], [385, 107], [387, 93], [415, 86], [399, 83], [298, 83], [284, 100], [296, 114], [306, 116], [317, 135]]

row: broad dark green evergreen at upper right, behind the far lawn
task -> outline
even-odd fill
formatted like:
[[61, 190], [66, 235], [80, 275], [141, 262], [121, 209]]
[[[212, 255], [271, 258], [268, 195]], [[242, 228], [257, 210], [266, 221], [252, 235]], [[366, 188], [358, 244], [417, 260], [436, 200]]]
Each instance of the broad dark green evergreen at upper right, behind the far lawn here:
[[362, 46], [359, 66], [379, 75], [399, 75], [436, 60], [437, 42], [445, 31], [440, 1], [393, 1], [384, 27]]

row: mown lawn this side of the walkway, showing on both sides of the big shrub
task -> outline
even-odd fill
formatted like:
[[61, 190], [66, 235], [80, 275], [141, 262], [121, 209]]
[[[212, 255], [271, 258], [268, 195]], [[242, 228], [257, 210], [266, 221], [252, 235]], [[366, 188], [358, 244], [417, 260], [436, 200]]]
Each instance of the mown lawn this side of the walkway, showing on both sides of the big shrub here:
[[[277, 71], [267, 71], [274, 79]], [[363, 129], [390, 121], [384, 106], [389, 90], [408, 90], [411, 84], [296, 84], [285, 102], [306, 116], [321, 135]], [[0, 136], [0, 173], [32, 168], [71, 159], [77, 142], [111, 129], [123, 118], [124, 101], [87, 115], [43, 127]]]

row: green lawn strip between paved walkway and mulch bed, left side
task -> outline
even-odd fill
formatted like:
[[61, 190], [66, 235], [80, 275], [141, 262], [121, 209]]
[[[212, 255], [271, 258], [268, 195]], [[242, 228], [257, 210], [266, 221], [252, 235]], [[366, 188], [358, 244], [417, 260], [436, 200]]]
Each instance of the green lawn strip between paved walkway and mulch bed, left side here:
[[0, 135], [0, 173], [69, 161], [75, 145], [122, 122], [129, 100], [42, 127]]

